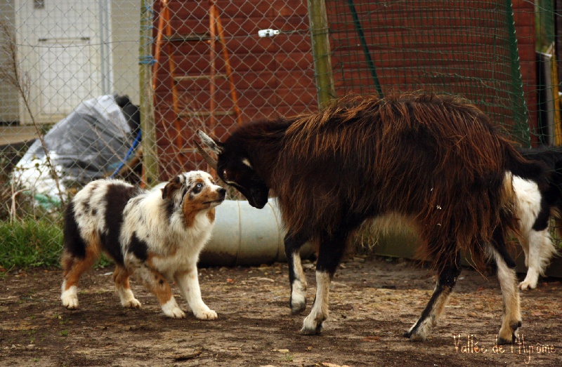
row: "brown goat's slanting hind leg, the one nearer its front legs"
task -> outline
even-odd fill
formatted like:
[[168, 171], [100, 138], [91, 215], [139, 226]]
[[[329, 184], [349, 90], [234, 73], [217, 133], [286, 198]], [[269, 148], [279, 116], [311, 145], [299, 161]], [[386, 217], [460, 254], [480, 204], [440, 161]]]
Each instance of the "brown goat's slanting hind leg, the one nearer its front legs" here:
[[424, 312], [421, 312], [418, 321], [404, 334], [406, 338], [410, 338], [410, 340], [413, 341], [426, 340], [431, 332], [431, 328], [437, 325], [437, 320], [440, 314], [443, 313], [452, 288], [455, 286], [455, 283], [457, 283], [459, 274], [461, 274], [461, 266], [460, 256], [459, 253], [457, 253], [455, 260], [453, 262], [448, 262], [439, 273], [439, 278], [433, 290], [433, 295], [431, 295], [431, 299], [426, 305]]

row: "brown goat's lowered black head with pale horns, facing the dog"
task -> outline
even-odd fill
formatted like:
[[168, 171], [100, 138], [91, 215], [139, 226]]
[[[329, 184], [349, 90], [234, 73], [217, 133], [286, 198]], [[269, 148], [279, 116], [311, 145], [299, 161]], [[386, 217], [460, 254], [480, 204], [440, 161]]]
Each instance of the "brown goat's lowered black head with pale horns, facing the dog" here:
[[244, 154], [244, 149], [229, 140], [218, 142], [202, 131], [197, 131], [197, 135], [218, 157], [214, 160], [195, 142], [207, 164], [218, 173], [218, 177], [240, 191], [254, 208], [261, 209], [266, 206], [269, 188], [256, 173], [247, 154]]

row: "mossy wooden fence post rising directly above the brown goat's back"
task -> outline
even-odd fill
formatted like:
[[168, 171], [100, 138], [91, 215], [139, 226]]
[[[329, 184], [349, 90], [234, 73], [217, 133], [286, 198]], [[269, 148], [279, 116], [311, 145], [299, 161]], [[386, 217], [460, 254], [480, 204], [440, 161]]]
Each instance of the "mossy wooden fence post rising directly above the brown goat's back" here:
[[308, 0], [308, 20], [311, 24], [316, 93], [318, 105], [322, 109], [336, 97], [325, 0]]

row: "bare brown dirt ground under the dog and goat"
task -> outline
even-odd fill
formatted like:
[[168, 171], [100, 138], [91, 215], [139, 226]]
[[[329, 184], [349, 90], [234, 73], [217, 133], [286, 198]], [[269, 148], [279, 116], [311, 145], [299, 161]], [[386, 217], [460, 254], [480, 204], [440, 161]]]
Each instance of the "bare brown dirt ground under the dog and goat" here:
[[[308, 313], [315, 281], [313, 264], [305, 267]], [[286, 264], [200, 269], [216, 321], [168, 319], [138, 283], [132, 288], [143, 307], [123, 309], [111, 272], [84, 276], [76, 311], [60, 305], [60, 271], [4, 272], [0, 366], [562, 366], [561, 279], [521, 295], [520, 340], [499, 349], [499, 286], [471, 269], [426, 342], [402, 337], [434, 285], [433, 273], [414, 262], [346, 260], [319, 336], [299, 334], [306, 313], [290, 314]]]

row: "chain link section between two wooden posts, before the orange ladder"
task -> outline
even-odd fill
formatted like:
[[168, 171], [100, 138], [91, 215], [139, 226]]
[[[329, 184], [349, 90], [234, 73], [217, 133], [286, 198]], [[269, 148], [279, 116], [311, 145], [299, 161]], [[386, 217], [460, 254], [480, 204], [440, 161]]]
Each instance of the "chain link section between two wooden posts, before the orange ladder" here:
[[154, 13], [164, 177], [200, 163], [190, 142], [197, 128], [225, 138], [242, 121], [317, 109], [302, 1], [157, 1]]

